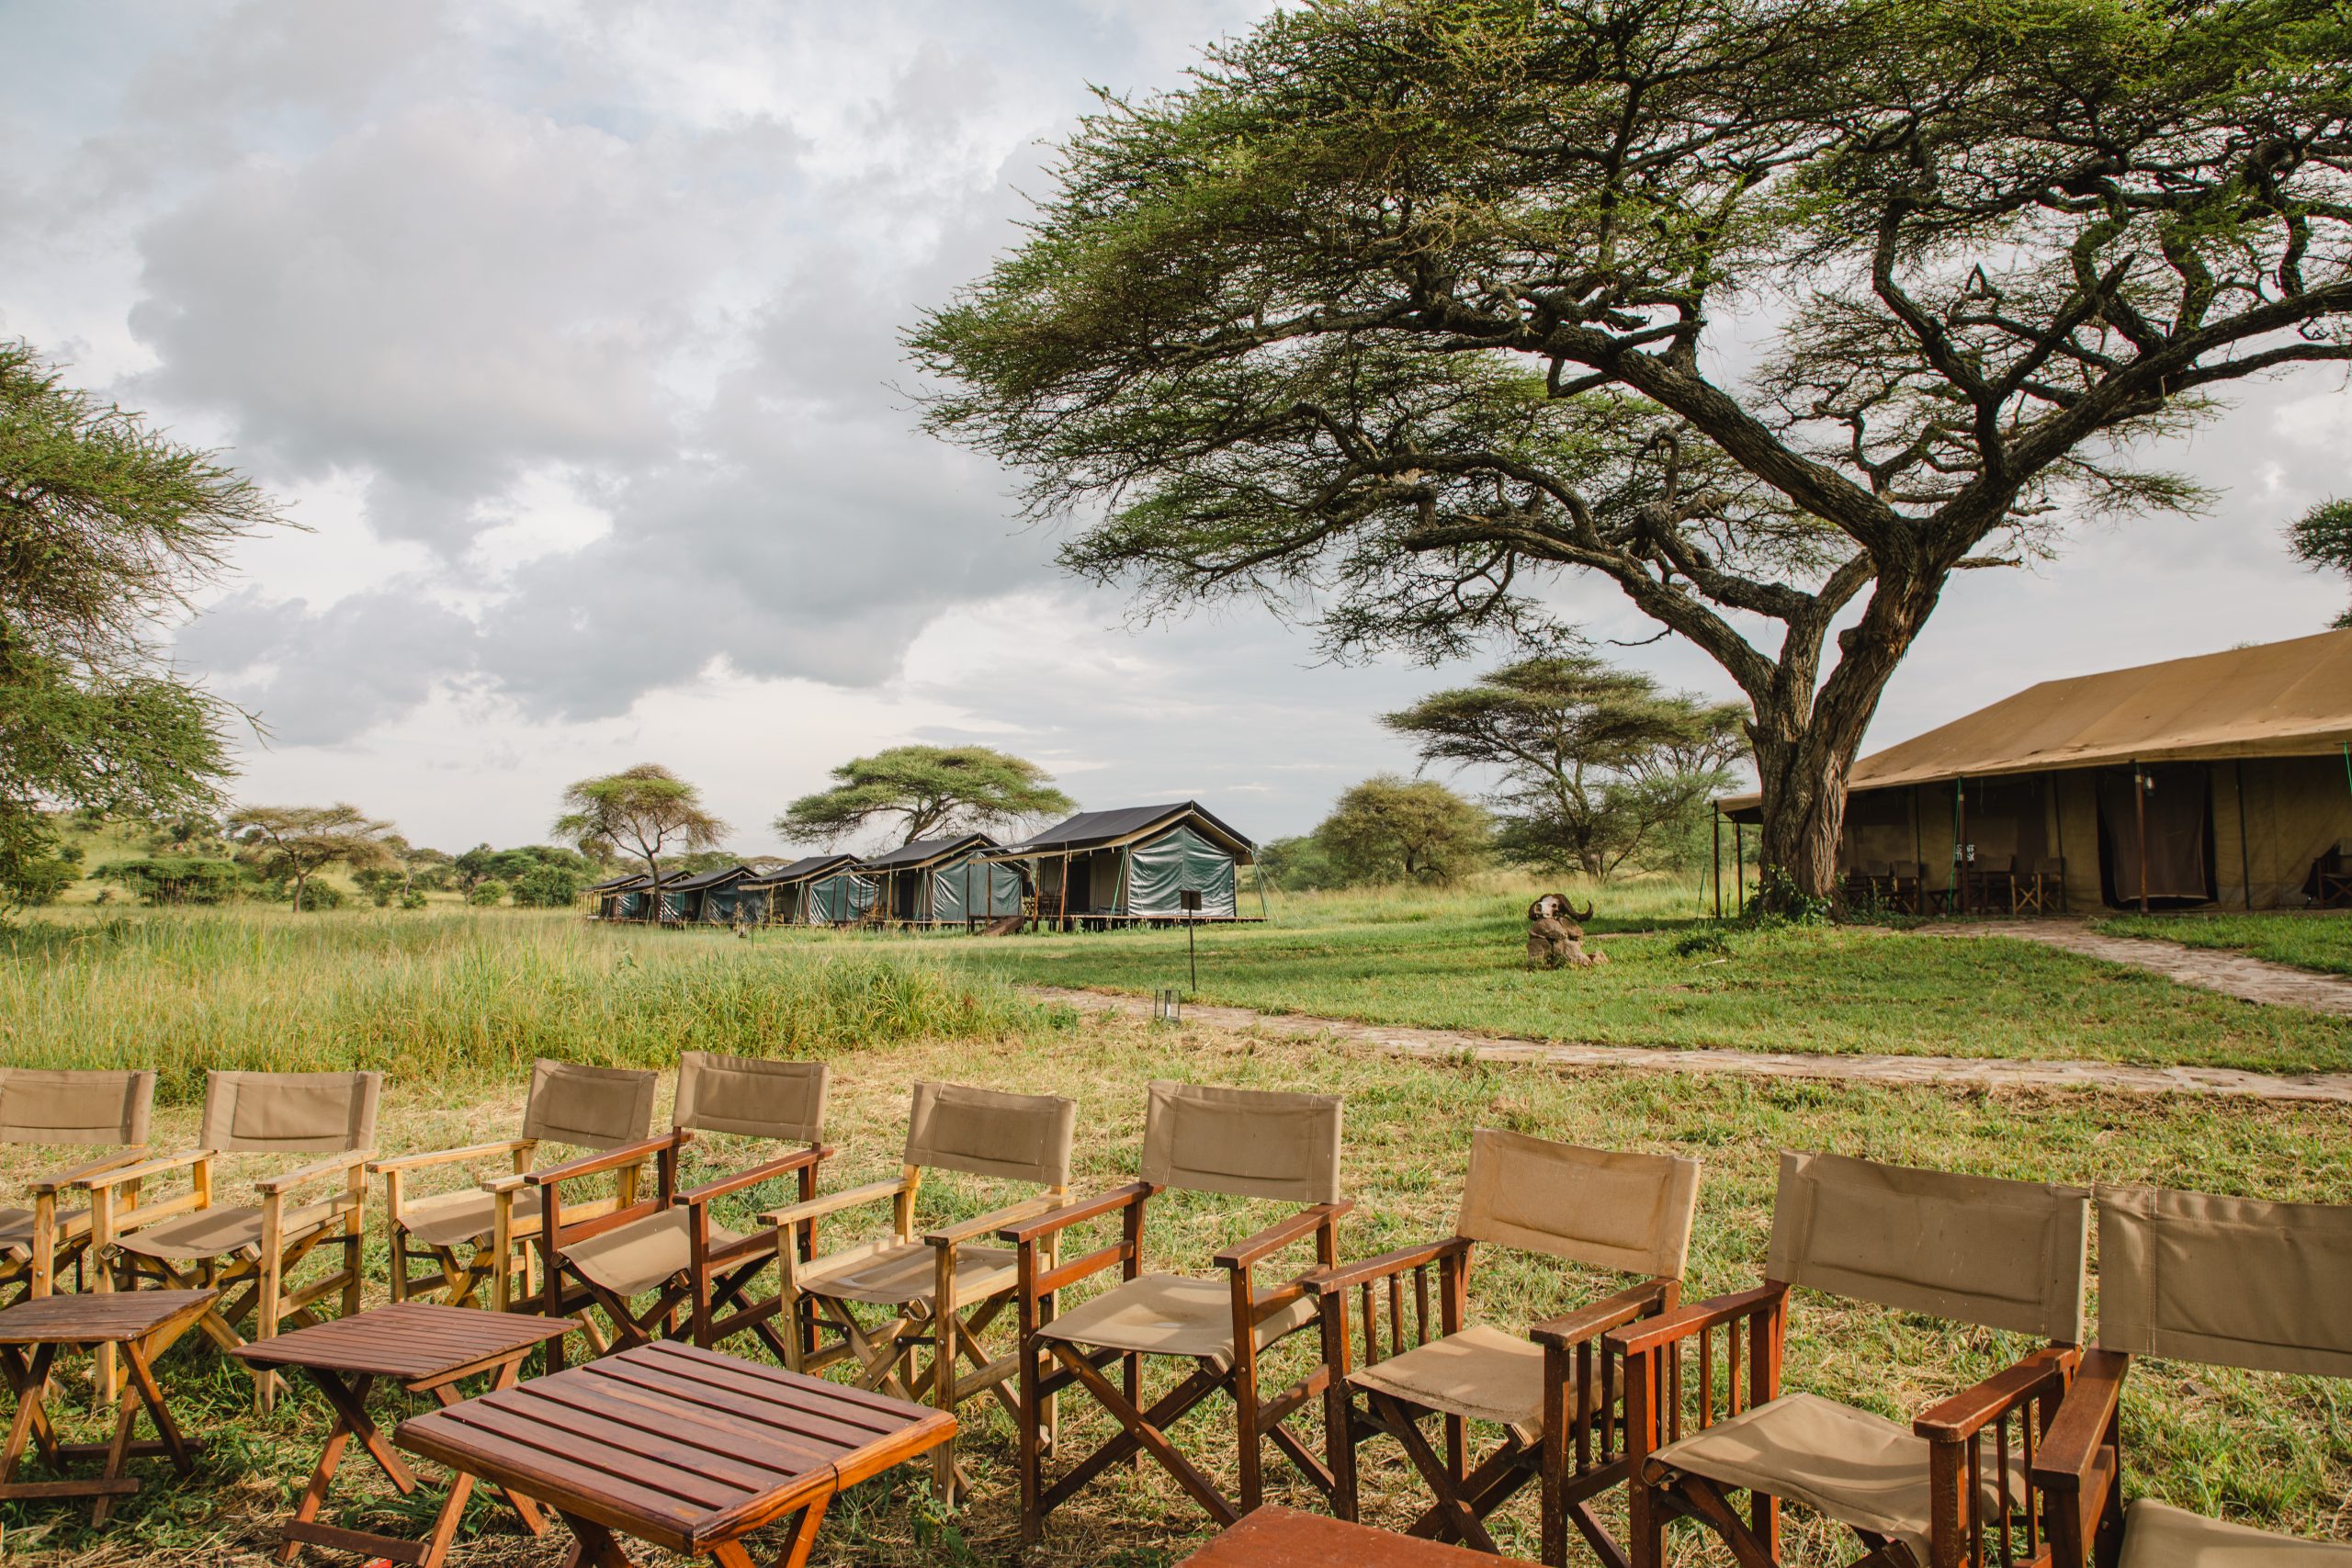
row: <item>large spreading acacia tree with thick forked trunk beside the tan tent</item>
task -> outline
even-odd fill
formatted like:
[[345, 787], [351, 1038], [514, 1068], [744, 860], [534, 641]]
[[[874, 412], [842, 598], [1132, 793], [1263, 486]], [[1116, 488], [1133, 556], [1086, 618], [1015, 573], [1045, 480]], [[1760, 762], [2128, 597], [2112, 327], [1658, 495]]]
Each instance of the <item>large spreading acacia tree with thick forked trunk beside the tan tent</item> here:
[[910, 350], [1145, 614], [1442, 658], [1616, 583], [1823, 893], [1950, 576], [2352, 357], [2347, 61], [2321, 0], [1327, 0], [1105, 101]]

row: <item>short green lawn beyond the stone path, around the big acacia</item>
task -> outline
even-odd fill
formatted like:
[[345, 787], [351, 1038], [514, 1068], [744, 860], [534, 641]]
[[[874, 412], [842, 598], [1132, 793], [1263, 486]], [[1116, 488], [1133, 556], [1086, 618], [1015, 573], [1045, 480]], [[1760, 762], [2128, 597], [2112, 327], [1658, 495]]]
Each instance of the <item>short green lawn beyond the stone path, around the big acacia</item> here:
[[[1531, 971], [1524, 910], [1524, 891], [1291, 898], [1277, 924], [1200, 931], [1197, 997], [1635, 1046], [2352, 1067], [2347, 1020], [2249, 1006], [2032, 943], [1931, 929], [1724, 926], [1726, 952], [1684, 957], [1675, 947], [1696, 926], [1689, 898], [1602, 893], [1590, 929], [1623, 931], [1599, 943], [1609, 964]], [[1035, 985], [1188, 987], [1183, 931], [955, 936], [922, 950]]]

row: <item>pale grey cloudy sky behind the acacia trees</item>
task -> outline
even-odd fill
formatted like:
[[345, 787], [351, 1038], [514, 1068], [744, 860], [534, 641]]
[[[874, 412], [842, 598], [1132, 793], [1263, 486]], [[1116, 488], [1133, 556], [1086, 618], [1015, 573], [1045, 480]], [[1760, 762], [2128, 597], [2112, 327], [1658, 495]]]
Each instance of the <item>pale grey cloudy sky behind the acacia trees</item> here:
[[[896, 336], [1014, 242], [1089, 85], [1181, 80], [1254, 0], [0, 5], [0, 334], [223, 447], [256, 541], [179, 658], [259, 712], [247, 802], [419, 842], [546, 835], [659, 759], [767, 823], [898, 741], [1044, 762], [1089, 806], [1258, 837], [1409, 752], [1463, 670], [1319, 665], [1256, 611], [1124, 625], [1004, 475], [915, 430]], [[1964, 574], [1872, 731], [2051, 675], [2319, 630], [2281, 524], [2352, 491], [2343, 374], [2178, 463], [2201, 520]], [[1653, 628], [1562, 585], [1599, 637]], [[1625, 654], [1731, 696], [1670, 644]]]

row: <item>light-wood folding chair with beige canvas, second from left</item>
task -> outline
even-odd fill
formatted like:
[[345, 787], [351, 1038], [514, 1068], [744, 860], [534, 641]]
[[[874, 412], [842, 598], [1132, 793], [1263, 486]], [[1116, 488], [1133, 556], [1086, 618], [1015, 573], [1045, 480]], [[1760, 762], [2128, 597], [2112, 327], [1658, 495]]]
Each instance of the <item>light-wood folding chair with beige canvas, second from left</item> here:
[[[221, 1349], [245, 1342], [238, 1326], [252, 1319], [254, 1340], [280, 1324], [315, 1324], [313, 1302], [341, 1293], [343, 1314], [360, 1309], [360, 1215], [367, 1201], [367, 1147], [376, 1135], [379, 1072], [212, 1072], [205, 1077], [205, 1126], [198, 1147], [82, 1180], [89, 1225], [113, 1246], [115, 1284], [139, 1288], [207, 1288], [223, 1298], [198, 1319]], [[223, 1154], [325, 1154], [315, 1164], [254, 1182], [254, 1204], [216, 1204]], [[148, 1199], [143, 1182], [188, 1171], [188, 1192]], [[329, 1197], [289, 1206], [287, 1199], [341, 1175]], [[310, 1253], [339, 1248], [341, 1265], [308, 1284], [289, 1279]], [[242, 1291], [240, 1291], [242, 1286]], [[278, 1401], [280, 1378], [254, 1373], [263, 1413]]]

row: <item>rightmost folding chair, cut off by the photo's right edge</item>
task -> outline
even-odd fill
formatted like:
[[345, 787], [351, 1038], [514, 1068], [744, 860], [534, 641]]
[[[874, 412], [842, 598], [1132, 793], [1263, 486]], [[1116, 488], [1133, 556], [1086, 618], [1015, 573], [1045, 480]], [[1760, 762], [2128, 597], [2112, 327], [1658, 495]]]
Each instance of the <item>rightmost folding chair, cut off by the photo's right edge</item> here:
[[2131, 1356], [2352, 1378], [2352, 1208], [2098, 1190], [2098, 1349], [2032, 1458], [2056, 1568], [2345, 1568], [2352, 1547], [2140, 1497], [2117, 1408]]

